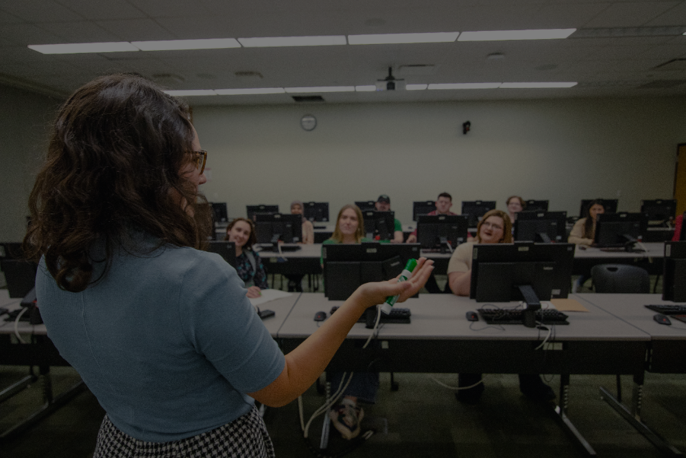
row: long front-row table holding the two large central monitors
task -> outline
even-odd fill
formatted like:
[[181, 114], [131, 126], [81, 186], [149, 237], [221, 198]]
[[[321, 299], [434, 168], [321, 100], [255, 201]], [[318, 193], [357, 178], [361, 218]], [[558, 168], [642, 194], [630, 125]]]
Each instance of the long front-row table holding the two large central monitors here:
[[[277, 334], [286, 353], [318, 328], [314, 314], [329, 312], [342, 301], [321, 293], [303, 293]], [[569, 312], [569, 325], [556, 325], [547, 350], [535, 350], [547, 332], [523, 325], [469, 322], [465, 314], [484, 304], [454, 295], [420, 295], [399, 305], [410, 308], [412, 323], [384, 324], [376, 339], [356, 323], [328, 370], [445, 372], [495, 374], [560, 374], [560, 405], [556, 417], [589, 455], [591, 445], [567, 417], [571, 374], [631, 374], [643, 384], [643, 363], [650, 336], [612, 314], [585, 303], [589, 312]], [[516, 306], [516, 302], [494, 304]]]

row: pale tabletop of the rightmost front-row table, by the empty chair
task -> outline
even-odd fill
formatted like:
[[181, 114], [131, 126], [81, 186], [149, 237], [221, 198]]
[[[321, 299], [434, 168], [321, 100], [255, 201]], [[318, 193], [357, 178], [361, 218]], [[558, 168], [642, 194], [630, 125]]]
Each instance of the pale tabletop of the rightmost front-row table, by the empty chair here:
[[[593, 304], [637, 329], [650, 334], [653, 340], [686, 339], [686, 323], [672, 319], [671, 325], [657, 323], [652, 317], [657, 312], [646, 305], [678, 303], [663, 301], [659, 294], [582, 294], [577, 295], [587, 304]], [[585, 306], [586, 304], [584, 304]], [[686, 305], [686, 304], [681, 304]]]

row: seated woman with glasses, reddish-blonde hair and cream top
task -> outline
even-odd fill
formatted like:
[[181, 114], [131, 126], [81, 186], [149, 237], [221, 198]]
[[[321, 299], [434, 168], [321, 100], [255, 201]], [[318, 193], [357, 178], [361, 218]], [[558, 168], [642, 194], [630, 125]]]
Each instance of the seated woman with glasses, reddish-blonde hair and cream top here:
[[[488, 211], [477, 226], [476, 243], [512, 243], [512, 222], [504, 211]], [[450, 257], [448, 264], [448, 284], [453, 294], [469, 296], [471, 286], [472, 249], [475, 242], [461, 244]], [[477, 402], [484, 391], [484, 384], [480, 383], [482, 374], [460, 374], [459, 387], [456, 398], [462, 402]], [[478, 384], [478, 385], [477, 385]], [[532, 400], [547, 401], [555, 399], [552, 388], [543, 383], [538, 374], [519, 374], [520, 391]]]

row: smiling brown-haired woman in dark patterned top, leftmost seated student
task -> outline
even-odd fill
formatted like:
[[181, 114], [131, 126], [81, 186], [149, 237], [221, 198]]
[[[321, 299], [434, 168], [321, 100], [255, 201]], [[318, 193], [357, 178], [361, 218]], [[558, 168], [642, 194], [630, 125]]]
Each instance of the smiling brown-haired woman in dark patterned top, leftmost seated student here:
[[224, 240], [236, 244], [236, 271], [248, 288], [247, 296], [250, 299], [260, 297], [260, 291], [268, 289], [269, 285], [259, 254], [252, 251], [252, 245], [257, 243], [255, 223], [246, 218], [236, 218], [226, 227]]

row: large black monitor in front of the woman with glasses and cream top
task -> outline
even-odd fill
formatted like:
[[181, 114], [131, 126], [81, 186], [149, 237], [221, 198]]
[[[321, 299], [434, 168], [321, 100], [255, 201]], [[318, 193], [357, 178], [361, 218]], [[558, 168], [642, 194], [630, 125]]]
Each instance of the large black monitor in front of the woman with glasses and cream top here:
[[475, 244], [469, 297], [477, 302], [524, 301], [525, 325], [533, 327], [541, 301], [569, 295], [574, 249], [572, 243]]

